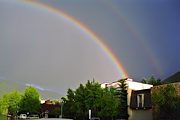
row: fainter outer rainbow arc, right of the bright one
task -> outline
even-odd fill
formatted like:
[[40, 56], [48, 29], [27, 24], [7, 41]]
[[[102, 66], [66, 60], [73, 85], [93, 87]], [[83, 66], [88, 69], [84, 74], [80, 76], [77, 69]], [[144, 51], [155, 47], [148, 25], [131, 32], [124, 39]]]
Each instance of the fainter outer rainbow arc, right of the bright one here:
[[154, 71], [160, 76], [162, 74], [162, 67], [160, 66], [160, 61], [157, 59], [158, 56], [153, 52], [151, 47], [149, 46], [149, 43], [147, 42], [149, 38], [146, 38], [143, 34], [140, 33], [139, 30], [136, 30], [134, 27], [134, 23], [130, 22], [126, 15], [124, 15], [122, 10], [118, 10], [110, 1], [103, 1], [104, 4], [108, 5], [109, 8], [113, 11], [113, 13], [116, 14], [116, 17], [120, 19], [123, 24], [126, 26], [126, 29], [131, 33], [131, 35], [134, 37], [133, 40], [136, 40], [139, 45], [142, 47], [142, 49], [146, 52], [148, 55], [149, 61], [152, 63], [152, 66], [154, 67]]

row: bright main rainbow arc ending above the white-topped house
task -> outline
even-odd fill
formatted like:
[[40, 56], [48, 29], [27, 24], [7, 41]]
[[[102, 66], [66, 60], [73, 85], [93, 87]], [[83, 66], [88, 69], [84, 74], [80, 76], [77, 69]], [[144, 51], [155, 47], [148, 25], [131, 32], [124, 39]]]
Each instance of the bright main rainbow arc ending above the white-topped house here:
[[42, 3], [42, 2], [39, 2], [39, 1], [36, 1], [36, 0], [25, 0], [25, 1], [22, 1], [22, 2], [24, 2], [26, 4], [30, 4], [33, 7], [48, 10], [48, 12], [53, 13], [53, 14], [58, 15], [58, 16], [61, 16], [61, 17], [65, 18], [65, 20], [67, 20], [67, 21], [71, 22], [72, 24], [74, 24], [76, 27], [78, 27], [84, 33], [89, 35], [101, 47], [101, 49], [109, 56], [112, 63], [116, 67], [117, 71], [119, 72], [119, 74], [121, 74], [122, 78], [128, 77], [128, 73], [126, 72], [126, 70], [123, 67], [120, 60], [117, 59], [117, 57], [113, 54], [111, 49], [92, 30], [90, 30], [85, 24], [78, 21], [74, 17], [68, 15], [67, 13], [63, 12], [59, 8], [55, 8], [55, 7], [53, 7], [51, 5], [48, 5], [46, 3]]

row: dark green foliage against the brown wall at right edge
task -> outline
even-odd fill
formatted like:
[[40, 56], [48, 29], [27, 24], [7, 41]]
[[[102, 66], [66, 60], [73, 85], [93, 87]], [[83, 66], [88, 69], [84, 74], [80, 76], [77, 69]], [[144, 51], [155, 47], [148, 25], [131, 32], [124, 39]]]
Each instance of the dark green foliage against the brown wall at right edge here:
[[[180, 96], [173, 85], [161, 86], [152, 93], [152, 103], [157, 109], [156, 119], [176, 119], [180, 112]], [[167, 114], [168, 113], [168, 114]]]

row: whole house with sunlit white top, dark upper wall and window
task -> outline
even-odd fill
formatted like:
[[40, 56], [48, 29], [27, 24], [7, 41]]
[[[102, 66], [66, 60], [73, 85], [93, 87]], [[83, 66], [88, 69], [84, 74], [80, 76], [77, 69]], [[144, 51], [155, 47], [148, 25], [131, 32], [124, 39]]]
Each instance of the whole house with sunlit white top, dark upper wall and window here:
[[[153, 85], [125, 79], [128, 86], [128, 120], [152, 120], [151, 88]], [[119, 82], [101, 84], [102, 88], [117, 88]]]

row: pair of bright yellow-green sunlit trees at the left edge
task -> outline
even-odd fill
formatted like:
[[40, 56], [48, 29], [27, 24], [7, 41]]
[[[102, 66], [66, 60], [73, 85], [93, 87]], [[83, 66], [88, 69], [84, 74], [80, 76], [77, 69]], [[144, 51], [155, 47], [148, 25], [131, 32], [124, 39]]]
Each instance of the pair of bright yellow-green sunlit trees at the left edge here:
[[14, 90], [6, 93], [0, 98], [0, 114], [9, 114], [11, 119], [17, 116], [18, 113], [30, 114], [39, 113], [40, 97], [37, 90], [33, 87], [27, 87], [22, 95]]

